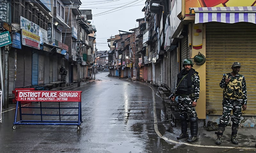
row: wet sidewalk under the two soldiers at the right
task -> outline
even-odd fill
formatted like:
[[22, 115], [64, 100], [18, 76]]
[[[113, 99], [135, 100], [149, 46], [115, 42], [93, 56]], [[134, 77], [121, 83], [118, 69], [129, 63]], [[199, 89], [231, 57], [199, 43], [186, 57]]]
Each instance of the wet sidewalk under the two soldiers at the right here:
[[[156, 96], [161, 97], [159, 92], [156, 94]], [[161, 97], [162, 98], [162, 97]], [[166, 98], [162, 98], [163, 103], [165, 106], [170, 106], [170, 100]], [[168, 112], [168, 109], [166, 108], [166, 116], [171, 116], [170, 111]], [[168, 114], [169, 113], [169, 114]], [[238, 133], [237, 133], [237, 141], [239, 142], [238, 145], [233, 144], [230, 142], [231, 138], [231, 126], [226, 127], [225, 131], [222, 136], [222, 142], [220, 145], [215, 144], [215, 140], [217, 138], [217, 135], [215, 134], [216, 131], [207, 131], [204, 127], [207, 126], [207, 123], [205, 123], [205, 120], [199, 119], [198, 120], [198, 140], [196, 142], [188, 143], [188, 138], [183, 138], [178, 140], [176, 137], [180, 135], [181, 133], [181, 127], [180, 127], [180, 120], [178, 119], [176, 122], [176, 127], [174, 125], [174, 121], [170, 120], [170, 125], [168, 125], [170, 128], [165, 132], [162, 133], [166, 138], [172, 140], [172, 143], [177, 144], [185, 144], [185, 145], [198, 145], [199, 147], [210, 147], [210, 148], [225, 148], [226, 150], [232, 149], [235, 147], [241, 147], [242, 149], [248, 149], [251, 151], [256, 151], [255, 148], [255, 142], [256, 142], [256, 128], [242, 128], [239, 127]], [[190, 123], [188, 122], [188, 134], [190, 135]], [[224, 150], [224, 149], [223, 149]]]

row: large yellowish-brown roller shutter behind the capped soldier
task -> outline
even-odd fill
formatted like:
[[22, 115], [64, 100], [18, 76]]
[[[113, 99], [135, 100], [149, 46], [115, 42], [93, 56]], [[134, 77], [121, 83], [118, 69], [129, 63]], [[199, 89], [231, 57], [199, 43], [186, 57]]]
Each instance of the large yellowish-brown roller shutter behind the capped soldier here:
[[251, 23], [206, 24], [206, 113], [222, 113], [220, 80], [232, 72], [233, 62], [241, 62], [246, 78], [248, 103], [245, 115], [256, 115], [256, 25]]

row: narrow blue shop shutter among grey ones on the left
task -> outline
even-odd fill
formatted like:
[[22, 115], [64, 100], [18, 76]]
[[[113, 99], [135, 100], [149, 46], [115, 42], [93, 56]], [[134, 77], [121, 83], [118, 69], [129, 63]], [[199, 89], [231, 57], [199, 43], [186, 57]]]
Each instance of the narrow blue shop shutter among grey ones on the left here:
[[33, 52], [32, 59], [32, 85], [38, 84], [38, 53]]

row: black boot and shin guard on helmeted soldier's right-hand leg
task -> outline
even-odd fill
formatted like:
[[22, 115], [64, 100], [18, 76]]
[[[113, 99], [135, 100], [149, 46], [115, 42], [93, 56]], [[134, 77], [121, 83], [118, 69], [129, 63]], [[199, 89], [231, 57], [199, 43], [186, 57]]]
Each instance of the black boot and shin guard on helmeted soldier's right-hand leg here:
[[187, 140], [187, 142], [194, 142], [194, 141], [198, 140], [198, 138], [197, 138], [197, 132], [198, 132], [197, 120], [198, 120], [197, 117], [189, 117], [191, 137]]

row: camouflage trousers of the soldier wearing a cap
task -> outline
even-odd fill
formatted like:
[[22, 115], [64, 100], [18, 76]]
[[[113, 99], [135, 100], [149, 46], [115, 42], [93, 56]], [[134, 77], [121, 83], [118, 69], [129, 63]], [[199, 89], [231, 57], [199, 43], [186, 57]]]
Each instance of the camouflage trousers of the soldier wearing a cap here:
[[238, 100], [224, 98], [222, 104], [223, 112], [220, 118], [220, 123], [227, 125], [231, 111], [233, 110], [231, 121], [233, 122], [233, 124], [239, 124], [242, 116], [242, 103]]

